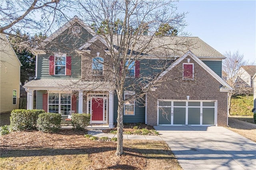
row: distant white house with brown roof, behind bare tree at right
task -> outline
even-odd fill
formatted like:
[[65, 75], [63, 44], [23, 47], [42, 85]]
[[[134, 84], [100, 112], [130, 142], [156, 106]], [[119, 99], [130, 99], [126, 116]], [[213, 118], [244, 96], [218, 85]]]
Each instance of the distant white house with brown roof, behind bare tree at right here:
[[238, 77], [244, 81], [246, 87], [253, 87], [252, 77], [256, 73], [256, 65], [243, 65], [238, 70]]

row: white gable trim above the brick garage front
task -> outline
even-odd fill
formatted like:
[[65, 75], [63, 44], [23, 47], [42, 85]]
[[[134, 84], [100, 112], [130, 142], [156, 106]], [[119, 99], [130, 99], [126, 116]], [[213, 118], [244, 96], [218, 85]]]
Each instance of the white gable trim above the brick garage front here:
[[194, 61], [196, 61], [202, 68], [204, 68], [212, 77], [214, 77], [221, 85], [220, 91], [228, 92], [234, 90], [226, 81], [224, 81], [220, 76], [218, 76], [212, 69], [210, 69], [203, 61], [201, 61], [194, 53], [188, 51], [182, 57], [178, 58], [176, 61], [172, 63], [166, 70], [164, 70], [158, 77], [157, 80], [161, 79], [166, 73], [168, 73], [171, 69], [173, 69], [178, 63], [180, 63], [183, 59], [190, 56]]

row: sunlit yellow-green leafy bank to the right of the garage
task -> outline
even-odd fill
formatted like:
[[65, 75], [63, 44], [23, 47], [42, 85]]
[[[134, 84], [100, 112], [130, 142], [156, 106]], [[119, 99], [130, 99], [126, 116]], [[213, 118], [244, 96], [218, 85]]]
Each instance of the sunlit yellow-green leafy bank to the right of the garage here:
[[253, 95], [237, 95], [231, 99], [230, 115], [250, 115], [252, 116]]

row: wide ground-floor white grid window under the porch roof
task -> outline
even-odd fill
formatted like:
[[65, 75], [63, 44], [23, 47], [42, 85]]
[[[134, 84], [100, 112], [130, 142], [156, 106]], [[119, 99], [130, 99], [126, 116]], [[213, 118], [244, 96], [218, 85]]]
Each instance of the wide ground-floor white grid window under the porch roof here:
[[68, 111], [71, 110], [71, 96], [70, 94], [49, 93], [48, 106], [50, 113], [68, 115]]

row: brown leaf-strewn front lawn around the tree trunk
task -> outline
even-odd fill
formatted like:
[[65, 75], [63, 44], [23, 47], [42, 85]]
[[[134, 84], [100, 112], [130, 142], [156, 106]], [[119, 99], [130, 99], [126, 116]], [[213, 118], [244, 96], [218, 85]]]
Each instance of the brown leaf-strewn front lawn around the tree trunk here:
[[63, 129], [0, 136], [0, 169], [182, 169], [164, 141], [124, 140], [125, 154], [118, 157], [116, 142], [90, 140], [85, 133]]

